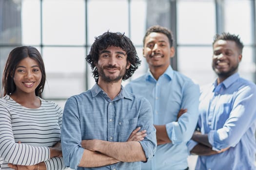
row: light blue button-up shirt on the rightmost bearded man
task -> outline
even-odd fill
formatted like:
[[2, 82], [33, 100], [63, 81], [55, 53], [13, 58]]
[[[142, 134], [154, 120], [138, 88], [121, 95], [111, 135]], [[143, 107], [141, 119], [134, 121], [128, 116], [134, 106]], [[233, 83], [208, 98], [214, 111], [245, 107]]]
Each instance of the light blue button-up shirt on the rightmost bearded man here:
[[[256, 85], [233, 74], [217, 85], [202, 87], [198, 128], [208, 134], [211, 156], [198, 156], [196, 170], [256, 170]], [[197, 142], [191, 140], [191, 150]]]

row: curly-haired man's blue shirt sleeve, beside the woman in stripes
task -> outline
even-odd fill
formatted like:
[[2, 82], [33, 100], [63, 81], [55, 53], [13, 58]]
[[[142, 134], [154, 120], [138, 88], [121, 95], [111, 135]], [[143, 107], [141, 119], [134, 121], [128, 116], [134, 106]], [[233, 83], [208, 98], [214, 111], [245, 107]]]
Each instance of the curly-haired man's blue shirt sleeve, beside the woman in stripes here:
[[78, 104], [73, 98], [67, 100], [63, 111], [61, 147], [65, 165], [77, 169], [84, 149], [81, 147]]

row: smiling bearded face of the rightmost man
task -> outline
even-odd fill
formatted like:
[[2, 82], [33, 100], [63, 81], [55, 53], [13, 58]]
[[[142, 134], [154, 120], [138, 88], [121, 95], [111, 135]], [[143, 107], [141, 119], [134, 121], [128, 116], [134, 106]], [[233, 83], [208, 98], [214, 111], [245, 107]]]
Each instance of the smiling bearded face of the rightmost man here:
[[219, 82], [222, 82], [238, 70], [239, 62], [242, 59], [235, 41], [218, 40], [213, 45], [212, 68], [218, 75]]

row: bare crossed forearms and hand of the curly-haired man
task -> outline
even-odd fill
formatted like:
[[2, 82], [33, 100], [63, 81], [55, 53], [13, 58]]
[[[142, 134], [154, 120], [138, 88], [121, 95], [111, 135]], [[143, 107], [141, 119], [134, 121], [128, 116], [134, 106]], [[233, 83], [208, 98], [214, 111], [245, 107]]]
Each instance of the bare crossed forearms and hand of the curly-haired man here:
[[[79, 167], [101, 167], [118, 162], [146, 161], [145, 153], [138, 141], [144, 139], [146, 130], [135, 129], [126, 142], [104, 140], [82, 140], [84, 148]], [[120, 152], [122, 151], [122, 152]]]

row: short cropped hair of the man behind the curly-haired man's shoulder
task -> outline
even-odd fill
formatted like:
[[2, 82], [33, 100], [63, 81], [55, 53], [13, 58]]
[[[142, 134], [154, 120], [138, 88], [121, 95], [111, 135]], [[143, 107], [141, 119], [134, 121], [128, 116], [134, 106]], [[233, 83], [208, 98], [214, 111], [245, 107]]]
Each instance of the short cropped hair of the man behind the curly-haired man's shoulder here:
[[171, 30], [169, 30], [168, 28], [162, 27], [162, 26], [159, 26], [159, 25], [154, 25], [154, 26], [151, 26], [147, 29], [146, 34], [144, 35], [144, 38], [143, 38], [143, 46], [145, 45], [146, 37], [151, 33], [165, 34], [169, 39], [170, 47], [173, 47], [173, 44], [174, 44], [173, 32]]

